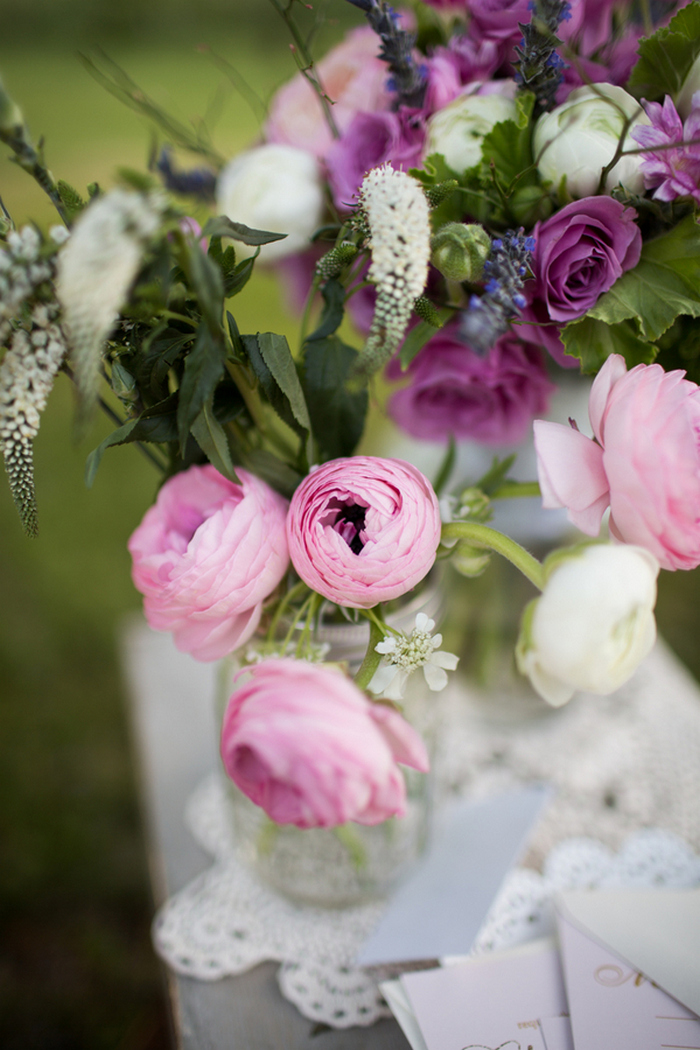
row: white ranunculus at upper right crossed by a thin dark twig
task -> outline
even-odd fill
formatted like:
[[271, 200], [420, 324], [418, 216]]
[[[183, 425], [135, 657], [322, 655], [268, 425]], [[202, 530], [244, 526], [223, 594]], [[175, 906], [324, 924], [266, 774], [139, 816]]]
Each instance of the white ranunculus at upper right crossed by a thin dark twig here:
[[[535, 124], [533, 150], [542, 177], [558, 190], [566, 175], [569, 196], [593, 196], [602, 169], [615, 155], [628, 118], [632, 123], [624, 148], [638, 149], [630, 130], [650, 120], [637, 100], [614, 84], [577, 87], [565, 103], [551, 113], [543, 113]], [[621, 183], [631, 193], [643, 193], [640, 163], [638, 153], [620, 158], [608, 172], [606, 192]]]

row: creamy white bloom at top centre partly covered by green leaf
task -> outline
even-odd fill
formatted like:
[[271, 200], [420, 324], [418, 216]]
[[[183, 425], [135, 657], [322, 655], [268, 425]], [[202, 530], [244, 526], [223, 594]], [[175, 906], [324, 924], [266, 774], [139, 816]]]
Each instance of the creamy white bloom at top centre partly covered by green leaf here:
[[428, 121], [425, 155], [442, 153], [461, 175], [482, 159], [484, 135], [502, 121], [515, 120], [517, 109], [505, 94], [461, 94]]

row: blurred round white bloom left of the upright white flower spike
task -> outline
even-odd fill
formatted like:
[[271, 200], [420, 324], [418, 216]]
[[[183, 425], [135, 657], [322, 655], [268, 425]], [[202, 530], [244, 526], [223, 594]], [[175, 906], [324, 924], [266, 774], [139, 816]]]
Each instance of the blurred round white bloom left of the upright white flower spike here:
[[[224, 169], [216, 185], [219, 214], [254, 230], [287, 233], [284, 240], [262, 247], [266, 262], [301, 251], [323, 215], [323, 185], [312, 153], [269, 143], [239, 153]], [[236, 242], [242, 258], [255, 248]]]

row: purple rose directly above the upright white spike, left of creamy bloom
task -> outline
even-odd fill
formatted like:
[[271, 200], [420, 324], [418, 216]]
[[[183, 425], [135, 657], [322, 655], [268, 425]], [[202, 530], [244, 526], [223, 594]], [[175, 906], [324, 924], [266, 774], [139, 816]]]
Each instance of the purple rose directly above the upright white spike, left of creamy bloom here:
[[423, 119], [416, 109], [358, 113], [345, 134], [326, 155], [328, 181], [338, 208], [353, 207], [353, 198], [367, 171], [388, 161], [393, 168], [417, 168], [425, 141]]

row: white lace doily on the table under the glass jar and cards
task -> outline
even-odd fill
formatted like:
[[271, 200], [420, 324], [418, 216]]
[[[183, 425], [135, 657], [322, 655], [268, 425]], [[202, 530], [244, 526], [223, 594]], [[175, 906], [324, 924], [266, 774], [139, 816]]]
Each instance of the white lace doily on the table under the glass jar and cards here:
[[[463, 691], [442, 702], [443, 793], [481, 798], [542, 779], [558, 790], [530, 866], [506, 880], [475, 952], [550, 932], [557, 889], [700, 883], [700, 701], [665, 654], [614, 697], [579, 697], [515, 728], [485, 724]], [[377, 988], [389, 968], [352, 965], [381, 904], [299, 907], [257, 882], [236, 858], [216, 778], [192, 796], [186, 820], [215, 863], [156, 916], [155, 946], [173, 969], [215, 980], [276, 960], [282, 994], [313, 1021], [345, 1028], [389, 1015]]]

